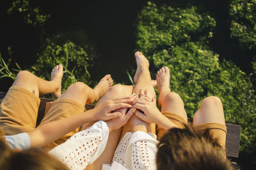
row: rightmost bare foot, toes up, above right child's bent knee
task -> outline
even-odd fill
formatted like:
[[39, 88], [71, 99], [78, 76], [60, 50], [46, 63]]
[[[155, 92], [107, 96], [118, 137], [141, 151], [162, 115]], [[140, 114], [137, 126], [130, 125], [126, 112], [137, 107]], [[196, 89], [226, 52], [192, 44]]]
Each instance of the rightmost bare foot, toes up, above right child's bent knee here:
[[170, 90], [170, 70], [168, 67], [162, 67], [156, 74], [157, 89], [159, 90], [158, 103], [161, 106], [163, 97], [171, 92]]

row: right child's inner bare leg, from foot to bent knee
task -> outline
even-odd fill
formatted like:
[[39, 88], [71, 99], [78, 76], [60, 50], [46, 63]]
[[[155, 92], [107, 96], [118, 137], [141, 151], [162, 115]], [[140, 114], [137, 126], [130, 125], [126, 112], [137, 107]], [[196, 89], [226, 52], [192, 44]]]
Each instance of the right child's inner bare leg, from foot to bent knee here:
[[[161, 106], [161, 112], [168, 111], [170, 113], [173, 113], [181, 118], [184, 119], [184, 122], [188, 121], [188, 117], [186, 114], [186, 111], [184, 109], [184, 103], [182, 99], [180, 98], [179, 94], [175, 92], [171, 92], [170, 90], [170, 70], [168, 67], [162, 67], [157, 71], [157, 88], [159, 90], [159, 99], [158, 103]], [[178, 124], [180, 127], [182, 127], [182, 124], [173, 119], [168, 117], [174, 124]], [[161, 138], [164, 134], [164, 129], [159, 127], [157, 136]]]

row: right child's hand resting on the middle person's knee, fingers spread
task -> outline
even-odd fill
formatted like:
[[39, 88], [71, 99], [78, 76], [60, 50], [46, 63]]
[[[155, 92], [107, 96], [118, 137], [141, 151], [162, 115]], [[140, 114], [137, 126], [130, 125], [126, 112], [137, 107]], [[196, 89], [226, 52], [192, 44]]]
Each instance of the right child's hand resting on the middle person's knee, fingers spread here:
[[132, 103], [132, 108], [141, 110], [143, 111], [143, 113], [141, 113], [140, 111], [136, 111], [136, 117], [149, 124], [159, 124], [159, 121], [161, 121], [160, 119], [161, 117], [163, 117], [163, 115], [156, 107], [156, 97], [154, 97], [150, 101], [149, 97], [147, 96], [147, 90], [145, 90], [145, 92], [140, 90], [139, 96], [140, 98], [136, 99]]

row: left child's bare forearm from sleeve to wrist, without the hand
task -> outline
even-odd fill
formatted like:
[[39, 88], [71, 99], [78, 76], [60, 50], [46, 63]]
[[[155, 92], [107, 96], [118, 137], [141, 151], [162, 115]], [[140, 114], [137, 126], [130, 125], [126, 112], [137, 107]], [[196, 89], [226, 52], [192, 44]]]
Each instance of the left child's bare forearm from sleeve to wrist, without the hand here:
[[45, 146], [84, 123], [93, 121], [92, 112], [93, 110], [90, 110], [86, 111], [86, 113], [39, 125], [33, 131], [28, 132], [31, 139], [31, 147]]

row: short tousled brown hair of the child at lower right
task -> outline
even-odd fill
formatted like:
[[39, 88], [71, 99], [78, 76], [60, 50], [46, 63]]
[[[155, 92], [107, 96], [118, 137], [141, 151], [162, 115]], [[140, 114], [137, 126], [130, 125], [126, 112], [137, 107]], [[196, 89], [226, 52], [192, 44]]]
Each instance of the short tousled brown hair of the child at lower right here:
[[157, 169], [232, 169], [225, 149], [209, 130], [201, 132], [190, 125], [167, 131], [157, 145]]

